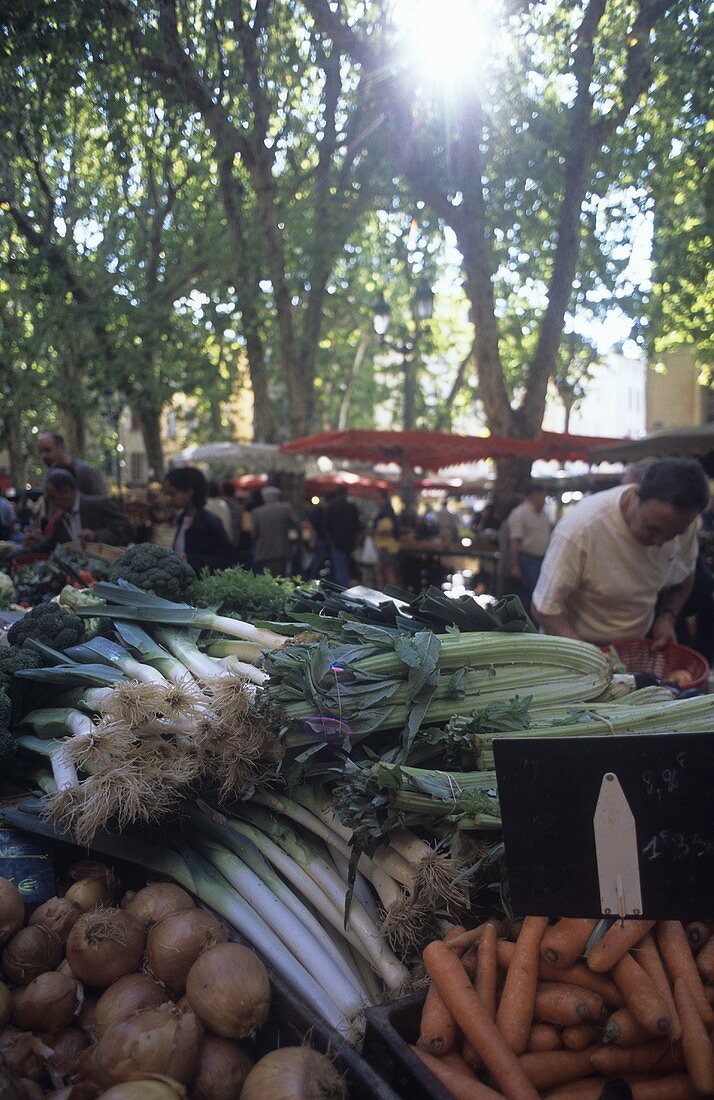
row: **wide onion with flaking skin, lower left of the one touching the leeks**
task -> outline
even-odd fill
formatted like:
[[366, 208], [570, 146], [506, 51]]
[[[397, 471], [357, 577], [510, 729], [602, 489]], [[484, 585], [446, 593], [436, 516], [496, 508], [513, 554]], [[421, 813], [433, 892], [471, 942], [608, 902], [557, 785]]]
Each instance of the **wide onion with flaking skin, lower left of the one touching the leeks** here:
[[144, 1009], [105, 1032], [97, 1044], [96, 1080], [102, 1088], [144, 1074], [171, 1074], [185, 1085], [198, 1058], [201, 1026], [174, 1004]]

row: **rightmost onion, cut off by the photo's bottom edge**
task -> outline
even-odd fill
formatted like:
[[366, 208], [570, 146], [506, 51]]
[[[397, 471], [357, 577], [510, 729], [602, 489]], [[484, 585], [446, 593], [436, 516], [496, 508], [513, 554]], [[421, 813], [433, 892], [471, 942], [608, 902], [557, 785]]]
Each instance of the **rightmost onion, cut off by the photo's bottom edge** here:
[[241, 1100], [347, 1100], [344, 1081], [323, 1054], [309, 1046], [271, 1050], [253, 1066]]

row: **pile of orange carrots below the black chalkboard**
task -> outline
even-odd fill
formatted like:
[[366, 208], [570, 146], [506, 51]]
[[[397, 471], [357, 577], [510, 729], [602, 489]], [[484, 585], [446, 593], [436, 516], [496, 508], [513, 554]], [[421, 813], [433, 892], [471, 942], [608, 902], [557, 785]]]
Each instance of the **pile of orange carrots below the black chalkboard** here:
[[714, 1098], [714, 924], [617, 921], [583, 959], [596, 923], [488, 921], [427, 946], [413, 1050], [454, 1100], [601, 1100], [615, 1080]]

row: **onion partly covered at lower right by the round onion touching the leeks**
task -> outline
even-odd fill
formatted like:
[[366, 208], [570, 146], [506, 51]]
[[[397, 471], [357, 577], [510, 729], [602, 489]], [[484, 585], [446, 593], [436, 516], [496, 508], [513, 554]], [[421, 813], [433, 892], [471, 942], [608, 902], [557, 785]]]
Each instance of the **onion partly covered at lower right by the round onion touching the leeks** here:
[[204, 909], [178, 909], [155, 924], [146, 939], [146, 963], [160, 981], [183, 993], [199, 955], [224, 943], [228, 932]]

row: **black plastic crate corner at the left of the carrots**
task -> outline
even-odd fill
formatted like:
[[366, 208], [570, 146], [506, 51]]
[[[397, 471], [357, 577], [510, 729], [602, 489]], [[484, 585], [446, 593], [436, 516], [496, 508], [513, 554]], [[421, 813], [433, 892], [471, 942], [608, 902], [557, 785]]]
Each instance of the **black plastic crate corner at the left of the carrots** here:
[[397, 1096], [409, 1100], [452, 1100], [409, 1043], [419, 1037], [425, 992], [367, 1009], [362, 1054]]

